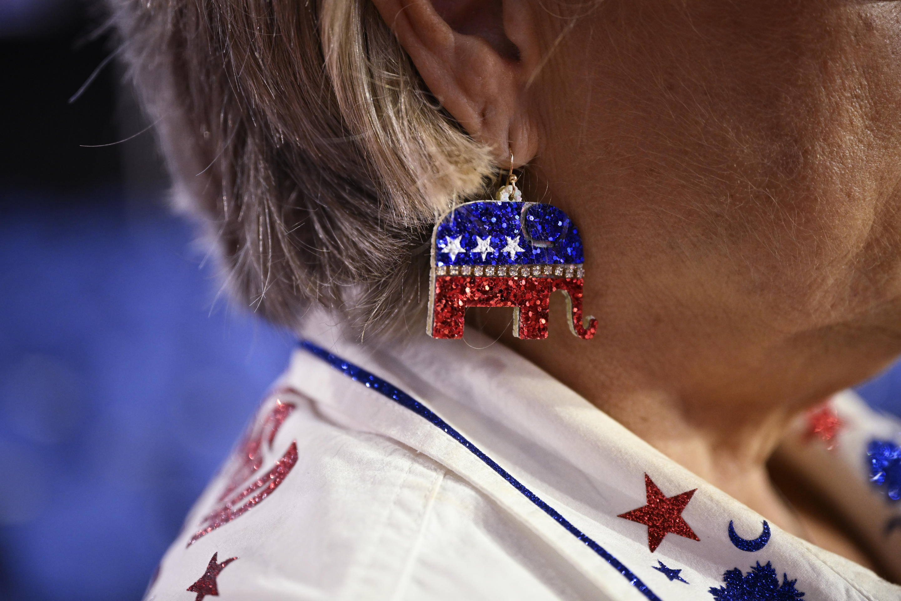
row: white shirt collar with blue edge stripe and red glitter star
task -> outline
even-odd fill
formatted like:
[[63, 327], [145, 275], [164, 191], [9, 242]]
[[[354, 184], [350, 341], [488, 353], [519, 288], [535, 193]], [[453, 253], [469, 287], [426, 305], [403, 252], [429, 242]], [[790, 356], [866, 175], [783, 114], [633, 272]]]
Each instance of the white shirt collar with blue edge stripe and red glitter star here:
[[[736, 546], [730, 528], [739, 541], [760, 541], [762, 516], [478, 332], [468, 332], [468, 341], [437, 341], [423, 335], [364, 345], [348, 341], [341, 328], [325, 320], [307, 323], [303, 332], [307, 340], [422, 403], [644, 581], [651, 582], [648, 565], [653, 567], [655, 560], [685, 569], [684, 574], [712, 585], [722, 585], [729, 569], [751, 573], [748, 570], [755, 561], [772, 561], [780, 573], [798, 579], [798, 589], [806, 591], [808, 598], [879, 598], [879, 591], [899, 592], [868, 570], [772, 524], [767, 526], [769, 540], [760, 550]], [[391, 436], [430, 455], [552, 539], [575, 564], [587, 571], [599, 570], [596, 557], [587, 557], [581, 545], [570, 540], [571, 533], [562, 532], [560, 524], [534, 511], [533, 504], [523, 504], [508, 481], [474, 461], [471, 452], [434, 423], [364, 394], [359, 382], [304, 351], [296, 353], [286, 380], [333, 407], [354, 427]], [[666, 497], [696, 490], [681, 517], [699, 541], [669, 533], [651, 553], [646, 526], [619, 517], [646, 504], [648, 479]], [[631, 583], [621, 585], [616, 588], [623, 589], [623, 598], [636, 592], [630, 590]]]

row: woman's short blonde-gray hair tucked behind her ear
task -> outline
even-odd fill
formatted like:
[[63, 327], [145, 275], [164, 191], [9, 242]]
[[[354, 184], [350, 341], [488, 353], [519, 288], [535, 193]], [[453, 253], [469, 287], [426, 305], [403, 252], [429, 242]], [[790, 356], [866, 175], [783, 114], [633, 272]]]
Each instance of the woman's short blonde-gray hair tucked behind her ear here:
[[233, 296], [288, 326], [323, 305], [367, 335], [422, 305], [435, 217], [495, 169], [369, 0], [108, 2]]

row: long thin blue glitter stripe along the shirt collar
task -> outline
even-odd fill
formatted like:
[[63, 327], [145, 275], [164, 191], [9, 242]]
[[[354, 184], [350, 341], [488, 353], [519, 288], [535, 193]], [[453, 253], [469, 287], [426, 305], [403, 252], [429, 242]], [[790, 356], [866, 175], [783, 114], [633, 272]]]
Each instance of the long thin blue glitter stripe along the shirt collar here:
[[338, 369], [339, 371], [341, 371], [341, 373], [343, 373], [345, 376], [350, 377], [350, 379], [352, 379], [353, 381], [359, 382], [367, 388], [372, 388], [379, 394], [387, 396], [391, 400], [395, 401], [398, 405], [405, 406], [407, 409], [414, 412], [414, 414], [424, 417], [429, 422], [434, 423], [445, 433], [448, 433], [451, 438], [453, 438], [457, 442], [460, 442], [460, 444], [469, 449], [469, 451], [473, 455], [482, 460], [489, 468], [494, 469], [498, 474], [500, 474], [501, 478], [504, 478], [516, 490], [523, 493], [523, 496], [537, 505], [545, 514], [550, 515], [558, 524], [566, 528], [570, 534], [575, 536], [579, 541], [583, 542], [589, 549], [595, 551], [598, 555], [600, 555], [601, 558], [603, 558], [607, 563], [613, 566], [616, 571], [618, 571], [627, 580], [629, 580], [629, 584], [640, 590], [642, 592], [642, 595], [646, 596], [651, 601], [660, 601], [660, 597], [656, 596], [654, 592], [651, 591], [651, 588], [649, 588], [648, 585], [642, 582], [641, 578], [635, 576], [632, 573], [632, 570], [626, 568], [620, 560], [617, 560], [613, 555], [610, 554], [609, 551], [606, 551], [604, 547], [594, 542], [591, 538], [588, 537], [586, 533], [583, 533], [576, 526], [570, 524], [569, 520], [560, 515], [560, 513], [556, 509], [542, 501], [541, 497], [537, 496], [531, 490], [526, 488], [522, 482], [507, 473], [504, 468], [497, 465], [495, 460], [492, 460], [484, 452], [480, 451], [476, 445], [474, 445], [472, 442], [469, 442], [462, 434], [454, 430], [451, 427], [451, 424], [442, 420], [441, 417], [434, 414], [432, 410], [428, 409], [422, 403], [416, 401], [412, 396], [407, 395], [403, 390], [392, 386], [382, 378], [378, 378], [377, 376], [370, 374], [366, 369], [359, 368], [353, 363], [350, 363], [350, 361], [343, 360], [341, 359], [341, 357], [338, 357], [337, 355], [333, 355], [329, 351], [321, 349], [313, 342], [300, 341], [299, 344], [302, 349], [313, 353], [316, 357], [325, 361], [333, 368]]

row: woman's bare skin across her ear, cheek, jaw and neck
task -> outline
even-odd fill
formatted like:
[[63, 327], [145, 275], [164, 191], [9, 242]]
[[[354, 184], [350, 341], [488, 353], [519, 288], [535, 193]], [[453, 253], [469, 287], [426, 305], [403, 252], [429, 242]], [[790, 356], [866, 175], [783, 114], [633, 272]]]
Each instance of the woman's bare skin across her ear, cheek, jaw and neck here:
[[[374, 0], [447, 110], [586, 249], [592, 341], [478, 322], [789, 532], [766, 462], [796, 414], [901, 352], [901, 5]], [[488, 10], [485, 6], [492, 5]], [[442, 18], [443, 17], [443, 18]], [[513, 44], [510, 50], [506, 42]], [[791, 496], [792, 491], [786, 491]]]

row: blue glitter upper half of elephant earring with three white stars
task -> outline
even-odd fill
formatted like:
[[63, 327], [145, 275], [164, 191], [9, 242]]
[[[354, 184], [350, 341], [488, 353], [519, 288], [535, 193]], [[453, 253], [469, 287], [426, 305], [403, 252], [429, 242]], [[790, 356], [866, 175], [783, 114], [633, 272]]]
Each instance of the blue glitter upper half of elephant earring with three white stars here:
[[[460, 238], [463, 251], [452, 258], [441, 252]], [[477, 237], [490, 238], [492, 251], [476, 252]], [[504, 252], [508, 241], [522, 251]], [[556, 206], [521, 201], [480, 200], [465, 203], [435, 226], [435, 265], [547, 265], [585, 262], [575, 224]], [[511, 258], [512, 257], [512, 258]]]

